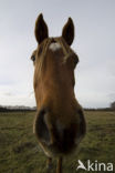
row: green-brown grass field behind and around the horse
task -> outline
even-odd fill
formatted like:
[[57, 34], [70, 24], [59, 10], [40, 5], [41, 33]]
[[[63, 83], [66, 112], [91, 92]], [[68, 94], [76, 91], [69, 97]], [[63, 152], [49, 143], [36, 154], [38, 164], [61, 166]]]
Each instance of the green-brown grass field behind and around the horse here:
[[[34, 112], [0, 113], [0, 173], [46, 172], [46, 157], [38, 146], [32, 132], [34, 114]], [[76, 171], [77, 160], [84, 164], [91, 160], [112, 162], [115, 165], [115, 112], [85, 111], [85, 118], [86, 136], [77, 153], [64, 160], [64, 173], [85, 173], [86, 171]], [[53, 167], [55, 169], [55, 162]], [[52, 173], [55, 173], [54, 169]]]

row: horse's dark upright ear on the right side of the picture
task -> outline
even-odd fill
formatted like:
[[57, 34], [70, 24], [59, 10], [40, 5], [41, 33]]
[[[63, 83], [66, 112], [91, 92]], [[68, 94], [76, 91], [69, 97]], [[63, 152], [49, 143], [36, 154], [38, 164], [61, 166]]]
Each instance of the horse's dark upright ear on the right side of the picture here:
[[67, 42], [69, 45], [72, 44], [74, 39], [74, 24], [71, 18], [69, 18], [67, 22], [63, 27], [62, 37], [64, 38], [64, 40]]

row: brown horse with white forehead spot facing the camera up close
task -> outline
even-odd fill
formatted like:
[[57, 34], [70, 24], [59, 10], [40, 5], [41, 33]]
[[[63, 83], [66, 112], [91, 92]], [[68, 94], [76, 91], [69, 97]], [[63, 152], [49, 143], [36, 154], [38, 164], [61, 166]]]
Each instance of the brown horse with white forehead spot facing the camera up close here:
[[62, 173], [62, 157], [77, 149], [86, 131], [83, 110], [74, 94], [74, 69], [79, 62], [70, 48], [74, 24], [69, 18], [62, 37], [49, 38], [48, 26], [40, 14], [34, 32], [38, 48], [31, 59], [38, 113], [33, 128], [48, 156], [48, 170], [51, 170], [52, 157], [56, 157], [56, 173]]

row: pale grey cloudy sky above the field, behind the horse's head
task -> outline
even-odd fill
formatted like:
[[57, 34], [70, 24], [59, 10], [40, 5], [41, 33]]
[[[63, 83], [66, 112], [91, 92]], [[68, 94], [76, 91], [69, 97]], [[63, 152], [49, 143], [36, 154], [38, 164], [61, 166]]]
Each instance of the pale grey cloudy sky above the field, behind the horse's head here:
[[62, 34], [69, 17], [74, 21], [80, 104], [109, 106], [115, 101], [114, 0], [0, 0], [0, 105], [35, 105], [30, 57], [36, 48], [34, 23], [41, 12], [51, 37]]

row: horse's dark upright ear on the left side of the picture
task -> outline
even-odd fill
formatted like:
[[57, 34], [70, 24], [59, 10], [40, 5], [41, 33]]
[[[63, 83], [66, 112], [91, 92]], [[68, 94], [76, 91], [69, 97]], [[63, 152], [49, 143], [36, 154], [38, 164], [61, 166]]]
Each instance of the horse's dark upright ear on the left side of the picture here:
[[34, 34], [38, 43], [41, 43], [44, 39], [49, 37], [48, 26], [43, 20], [42, 13], [38, 17], [35, 21]]

